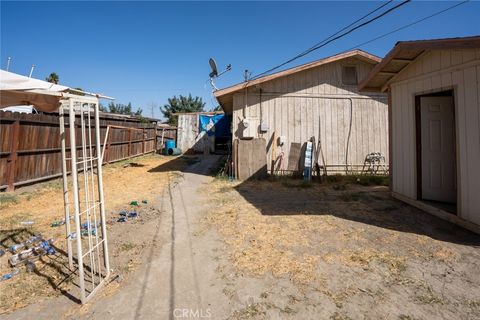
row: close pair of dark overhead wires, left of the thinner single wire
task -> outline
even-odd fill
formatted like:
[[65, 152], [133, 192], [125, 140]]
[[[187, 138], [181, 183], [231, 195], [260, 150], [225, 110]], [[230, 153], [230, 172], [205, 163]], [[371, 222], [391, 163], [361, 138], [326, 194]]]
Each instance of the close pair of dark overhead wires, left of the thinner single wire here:
[[[318, 49], [326, 46], [327, 44], [332, 43], [332, 42], [335, 41], [335, 40], [338, 40], [338, 39], [340, 39], [340, 38], [343, 38], [343, 37], [345, 37], [346, 35], [352, 33], [353, 31], [355, 31], [355, 30], [357, 30], [357, 29], [360, 29], [360, 28], [362, 28], [362, 27], [364, 27], [364, 26], [366, 26], [366, 25], [368, 25], [368, 24], [370, 24], [370, 23], [372, 23], [372, 22], [374, 22], [374, 21], [376, 21], [376, 20], [384, 17], [385, 15], [391, 13], [392, 11], [394, 11], [394, 10], [396, 10], [396, 9], [404, 6], [405, 4], [411, 2], [411, 0], [405, 0], [405, 1], [397, 4], [396, 6], [390, 8], [390, 9], [387, 9], [387, 10], [385, 10], [384, 12], [376, 15], [375, 17], [373, 17], [373, 18], [371, 18], [371, 19], [369, 19], [369, 20], [367, 20], [367, 21], [365, 21], [365, 22], [357, 25], [356, 27], [353, 27], [353, 28], [351, 28], [351, 29], [349, 29], [349, 30], [341, 33], [340, 35], [338, 35], [338, 34], [339, 34], [340, 32], [342, 32], [343, 30], [345, 30], [345, 29], [349, 28], [350, 26], [358, 23], [359, 21], [363, 20], [365, 17], [370, 16], [371, 14], [373, 14], [374, 12], [376, 12], [376, 11], [378, 11], [379, 9], [383, 8], [384, 6], [386, 6], [387, 4], [389, 4], [390, 2], [392, 2], [392, 1], [389, 1], [389, 2], [381, 5], [380, 7], [374, 9], [373, 11], [369, 12], [367, 15], [365, 15], [365, 16], [363, 16], [362, 18], [356, 20], [355, 22], [349, 24], [348, 26], [342, 28], [340, 31], [338, 31], [338, 32], [334, 33], [333, 35], [329, 36], [328, 38], [320, 41], [318, 44], [314, 45], [313, 47], [310, 47], [309, 49], [303, 51], [302, 53], [300, 53], [300, 54], [298, 54], [298, 55], [296, 55], [296, 56], [294, 56], [293, 58], [288, 59], [287, 61], [285, 61], [285, 62], [283, 62], [283, 63], [281, 63], [281, 64], [279, 64], [279, 65], [277, 65], [277, 66], [275, 66], [275, 67], [273, 67], [273, 68], [270, 68], [270, 69], [268, 69], [268, 70], [266, 70], [266, 71], [264, 71], [264, 72], [262, 72], [262, 73], [259, 73], [259, 74], [255, 75], [255, 76], [253, 76], [250, 80], [260, 78], [260, 77], [262, 77], [263, 75], [266, 75], [266, 74], [268, 74], [268, 73], [270, 73], [270, 72], [272, 72], [272, 71], [274, 71], [274, 70], [276, 70], [276, 69], [278, 69], [278, 68], [283, 67], [284, 65], [286, 65], [286, 64], [288, 64], [288, 63], [290, 63], [290, 62], [293, 62], [293, 61], [295, 61], [295, 60], [297, 60], [297, 59], [299, 59], [299, 58], [301, 58], [301, 57], [303, 57], [303, 56], [306, 56], [307, 54], [309, 54], [309, 53], [311, 53], [311, 52], [313, 52], [313, 51], [315, 51], [315, 50], [318, 50]], [[335, 36], [335, 35], [336, 35], [336, 36]], [[333, 37], [333, 38], [332, 38], [332, 37]]]

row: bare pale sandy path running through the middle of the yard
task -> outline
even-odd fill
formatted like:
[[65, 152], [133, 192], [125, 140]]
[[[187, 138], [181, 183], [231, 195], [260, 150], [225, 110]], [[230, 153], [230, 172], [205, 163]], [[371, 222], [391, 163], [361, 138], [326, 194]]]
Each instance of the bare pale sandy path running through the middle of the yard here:
[[[212, 178], [206, 174], [218, 157], [209, 156], [192, 165], [176, 183], [170, 183], [161, 197], [164, 216], [157, 228], [148, 262], [130, 283], [117, 294], [93, 304], [83, 317], [86, 319], [169, 319], [185, 312], [207, 314], [212, 301], [225, 299], [220, 291], [208, 292], [214, 282], [208, 270], [214, 270], [211, 259], [204, 259], [209, 248], [194, 245], [193, 225], [204, 210], [198, 189]], [[213, 293], [213, 291], [211, 292]]]

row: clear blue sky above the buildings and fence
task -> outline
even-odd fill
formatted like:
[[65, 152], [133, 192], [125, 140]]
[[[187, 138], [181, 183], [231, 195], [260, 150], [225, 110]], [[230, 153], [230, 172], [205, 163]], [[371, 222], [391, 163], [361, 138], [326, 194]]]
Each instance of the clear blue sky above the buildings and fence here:
[[[451, 1], [413, 2], [289, 66], [329, 56], [430, 13]], [[232, 71], [225, 87], [309, 48], [380, 2], [5, 2], [1, 1], [1, 67], [132, 102], [150, 105], [173, 95], [201, 96], [215, 105], [208, 58]], [[362, 49], [383, 56], [400, 40], [480, 34], [480, 2], [472, 1]], [[158, 108], [156, 117], [160, 116]]]

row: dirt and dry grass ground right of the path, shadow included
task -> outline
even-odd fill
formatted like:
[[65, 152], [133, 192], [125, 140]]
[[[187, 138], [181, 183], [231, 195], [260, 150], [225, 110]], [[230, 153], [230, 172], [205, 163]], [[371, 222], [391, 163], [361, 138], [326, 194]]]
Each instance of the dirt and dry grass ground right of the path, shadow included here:
[[217, 179], [205, 195], [223, 292], [244, 305], [231, 319], [480, 318], [480, 237], [387, 187]]

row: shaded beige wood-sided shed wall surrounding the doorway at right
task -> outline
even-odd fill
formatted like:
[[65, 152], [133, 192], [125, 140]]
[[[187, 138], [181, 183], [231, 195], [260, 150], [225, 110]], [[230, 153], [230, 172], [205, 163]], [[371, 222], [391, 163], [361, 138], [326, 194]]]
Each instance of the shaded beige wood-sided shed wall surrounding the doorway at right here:
[[435, 50], [391, 83], [392, 190], [417, 198], [415, 96], [454, 90], [458, 214], [480, 224], [480, 49]]

